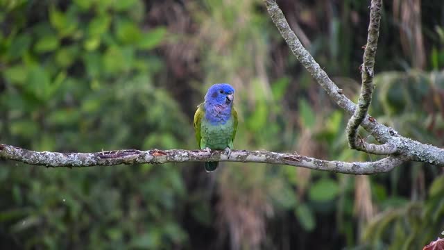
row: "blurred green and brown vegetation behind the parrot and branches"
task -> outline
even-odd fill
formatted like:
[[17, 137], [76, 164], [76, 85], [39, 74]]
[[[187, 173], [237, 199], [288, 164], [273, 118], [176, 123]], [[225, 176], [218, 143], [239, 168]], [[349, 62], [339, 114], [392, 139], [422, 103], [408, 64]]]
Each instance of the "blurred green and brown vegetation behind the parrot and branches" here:
[[[369, 1], [278, 1], [349, 97]], [[237, 149], [376, 160], [259, 0], [0, 1], [0, 140], [38, 151], [195, 149], [212, 83], [237, 90]], [[443, 147], [441, 0], [384, 1], [370, 113]], [[364, 133], [363, 133], [364, 134]], [[365, 135], [365, 134], [364, 134]], [[368, 139], [370, 140], [370, 139]], [[45, 168], [0, 161], [1, 249], [421, 249], [444, 230], [443, 169], [347, 176], [225, 163]]]

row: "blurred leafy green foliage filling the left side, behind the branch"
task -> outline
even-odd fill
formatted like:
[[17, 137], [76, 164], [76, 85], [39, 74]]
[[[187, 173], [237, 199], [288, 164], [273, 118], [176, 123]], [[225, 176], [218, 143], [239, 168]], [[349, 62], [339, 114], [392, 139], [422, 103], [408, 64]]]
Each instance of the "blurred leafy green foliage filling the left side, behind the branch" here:
[[[153, 49], [167, 29], [142, 28], [142, 1], [2, 4], [2, 22], [13, 24], [0, 39], [2, 142], [42, 151], [187, 145], [189, 120], [155, 81], [163, 63]], [[1, 165], [1, 242], [169, 249], [187, 241], [178, 167]]]

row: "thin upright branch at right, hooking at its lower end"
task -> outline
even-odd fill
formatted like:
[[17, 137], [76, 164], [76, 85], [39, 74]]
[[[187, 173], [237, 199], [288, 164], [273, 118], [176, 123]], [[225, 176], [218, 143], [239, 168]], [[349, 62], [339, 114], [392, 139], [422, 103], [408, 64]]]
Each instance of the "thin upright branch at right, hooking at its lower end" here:
[[[355, 113], [348, 121], [346, 132], [350, 148], [366, 151], [370, 145], [360, 144], [358, 140], [358, 127], [367, 115], [368, 107], [372, 101], [373, 75], [375, 56], [377, 49], [377, 39], [379, 37], [379, 22], [381, 20], [382, 0], [372, 0], [370, 7], [370, 23], [368, 24], [368, 36], [366, 49], [364, 51], [364, 63], [361, 65], [361, 94]], [[372, 144], [371, 147], [379, 148], [379, 145]]]

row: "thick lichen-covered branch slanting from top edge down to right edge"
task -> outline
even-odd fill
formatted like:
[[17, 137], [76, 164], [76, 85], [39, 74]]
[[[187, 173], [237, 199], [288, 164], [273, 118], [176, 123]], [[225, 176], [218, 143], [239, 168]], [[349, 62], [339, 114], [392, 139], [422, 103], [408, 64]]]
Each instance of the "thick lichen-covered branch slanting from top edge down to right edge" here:
[[[307, 69], [319, 85], [321, 85], [330, 98], [345, 110], [345, 113], [348, 113], [350, 116], [355, 114], [357, 108], [355, 103], [345, 97], [343, 91], [334, 84], [327, 73], [325, 73], [318, 63], [316, 63], [316, 60], [314, 60], [310, 53], [302, 46], [298, 37], [296, 37], [295, 33], [291, 30], [278, 4], [276, 4], [274, 0], [264, 0], [264, 2], [268, 14], [280, 31], [282, 38], [287, 42], [291, 52], [293, 52], [299, 62]], [[368, 144], [364, 141], [359, 142], [361, 143], [361, 147], [364, 147], [368, 153], [405, 156], [409, 160], [444, 166], [444, 149], [405, 138], [399, 135], [393, 128], [379, 124], [376, 119], [370, 115], [365, 116], [361, 122], [361, 126], [373, 135], [377, 142], [382, 143], [381, 145], [377, 145]]]

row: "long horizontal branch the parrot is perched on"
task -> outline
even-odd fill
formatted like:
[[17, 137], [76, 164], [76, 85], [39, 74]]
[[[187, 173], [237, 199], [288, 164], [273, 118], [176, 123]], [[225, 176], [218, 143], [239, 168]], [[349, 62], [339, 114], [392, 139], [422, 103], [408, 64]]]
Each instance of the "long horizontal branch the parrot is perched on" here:
[[305, 167], [343, 174], [376, 174], [388, 172], [407, 159], [389, 156], [382, 160], [367, 163], [344, 163], [340, 161], [319, 160], [307, 156], [290, 153], [275, 153], [269, 151], [233, 150], [230, 158], [224, 151], [212, 151], [211, 154], [203, 150], [151, 149], [139, 151], [126, 149], [117, 151], [102, 151], [96, 153], [58, 153], [37, 152], [6, 144], [0, 144], [0, 158], [16, 160], [31, 165], [46, 167], [90, 167], [97, 165], [119, 165], [137, 163], [189, 163], [207, 161], [228, 161], [240, 163], [270, 163]]

